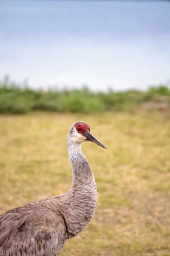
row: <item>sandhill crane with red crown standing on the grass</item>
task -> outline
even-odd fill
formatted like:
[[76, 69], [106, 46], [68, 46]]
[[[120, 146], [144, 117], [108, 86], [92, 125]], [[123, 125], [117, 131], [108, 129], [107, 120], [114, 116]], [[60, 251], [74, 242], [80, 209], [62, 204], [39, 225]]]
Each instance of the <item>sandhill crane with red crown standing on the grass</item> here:
[[0, 256], [57, 256], [66, 239], [84, 230], [94, 217], [98, 195], [94, 174], [82, 154], [84, 141], [106, 148], [85, 122], [71, 126], [67, 147], [73, 183], [67, 193], [0, 215]]

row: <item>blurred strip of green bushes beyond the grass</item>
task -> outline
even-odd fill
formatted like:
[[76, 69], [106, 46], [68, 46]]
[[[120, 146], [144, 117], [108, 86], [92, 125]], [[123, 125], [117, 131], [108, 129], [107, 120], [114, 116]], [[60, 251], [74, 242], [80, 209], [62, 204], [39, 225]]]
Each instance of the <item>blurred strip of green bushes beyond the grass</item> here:
[[133, 112], [139, 108], [170, 110], [170, 87], [160, 84], [147, 91], [126, 90], [91, 92], [79, 90], [34, 90], [27, 84], [16, 84], [9, 77], [0, 81], [0, 113], [54, 111], [70, 113]]

